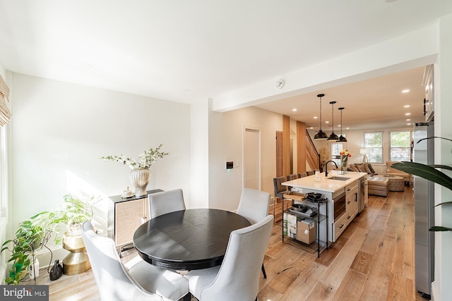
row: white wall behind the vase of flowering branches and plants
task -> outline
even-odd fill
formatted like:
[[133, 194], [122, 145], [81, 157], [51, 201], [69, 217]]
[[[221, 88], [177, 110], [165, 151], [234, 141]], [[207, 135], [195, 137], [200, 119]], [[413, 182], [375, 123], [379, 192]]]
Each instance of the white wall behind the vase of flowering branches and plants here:
[[82, 189], [120, 195], [127, 166], [101, 156], [138, 154], [163, 143], [148, 190], [190, 195], [190, 108], [132, 94], [13, 74], [11, 223], [55, 209]]

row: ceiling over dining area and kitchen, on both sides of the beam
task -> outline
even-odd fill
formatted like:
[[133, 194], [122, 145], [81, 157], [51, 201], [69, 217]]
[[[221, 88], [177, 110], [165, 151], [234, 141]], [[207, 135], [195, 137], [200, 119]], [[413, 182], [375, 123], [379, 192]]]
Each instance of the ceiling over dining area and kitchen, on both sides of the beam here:
[[[398, 37], [449, 13], [450, 0], [0, 0], [0, 62], [15, 73], [189, 104]], [[422, 118], [422, 73], [319, 91], [326, 94], [323, 120], [331, 116], [331, 101], [345, 106], [350, 128], [363, 126], [352, 116], [369, 120], [364, 126], [388, 125], [403, 104]], [[405, 88], [412, 92], [401, 95]], [[319, 92], [260, 107], [317, 125]]]

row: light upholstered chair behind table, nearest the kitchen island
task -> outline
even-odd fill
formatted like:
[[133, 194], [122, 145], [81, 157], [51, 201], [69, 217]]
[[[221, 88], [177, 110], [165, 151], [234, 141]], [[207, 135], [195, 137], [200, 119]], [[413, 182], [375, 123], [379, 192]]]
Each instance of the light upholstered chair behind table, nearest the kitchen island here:
[[[270, 207], [270, 193], [249, 188], [242, 190], [237, 214], [249, 220], [251, 224], [257, 223], [268, 216]], [[262, 264], [263, 278], [267, 278], [266, 269]]]

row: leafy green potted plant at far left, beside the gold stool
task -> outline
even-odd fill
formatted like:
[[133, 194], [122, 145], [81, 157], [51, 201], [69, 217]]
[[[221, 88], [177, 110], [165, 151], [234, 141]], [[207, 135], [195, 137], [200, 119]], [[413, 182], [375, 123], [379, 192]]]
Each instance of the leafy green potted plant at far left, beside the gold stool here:
[[[23, 280], [32, 262], [35, 250], [45, 242], [45, 233], [45, 229], [42, 228], [40, 223], [29, 219], [19, 223], [15, 238], [6, 240], [1, 245], [1, 252], [4, 252], [4, 250], [11, 252], [11, 257], [7, 261], [12, 264], [9, 277], [5, 278], [7, 284], [18, 285]], [[8, 247], [11, 242], [13, 243], [12, 249]], [[32, 258], [30, 258], [30, 255], [32, 255]]]

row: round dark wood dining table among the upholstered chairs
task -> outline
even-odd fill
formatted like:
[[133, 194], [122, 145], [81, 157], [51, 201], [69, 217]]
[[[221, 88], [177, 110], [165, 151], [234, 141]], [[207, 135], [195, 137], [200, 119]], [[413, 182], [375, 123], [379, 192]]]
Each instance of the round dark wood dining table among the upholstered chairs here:
[[157, 216], [133, 235], [138, 254], [164, 269], [191, 271], [219, 266], [230, 233], [251, 223], [220, 209], [186, 209]]

